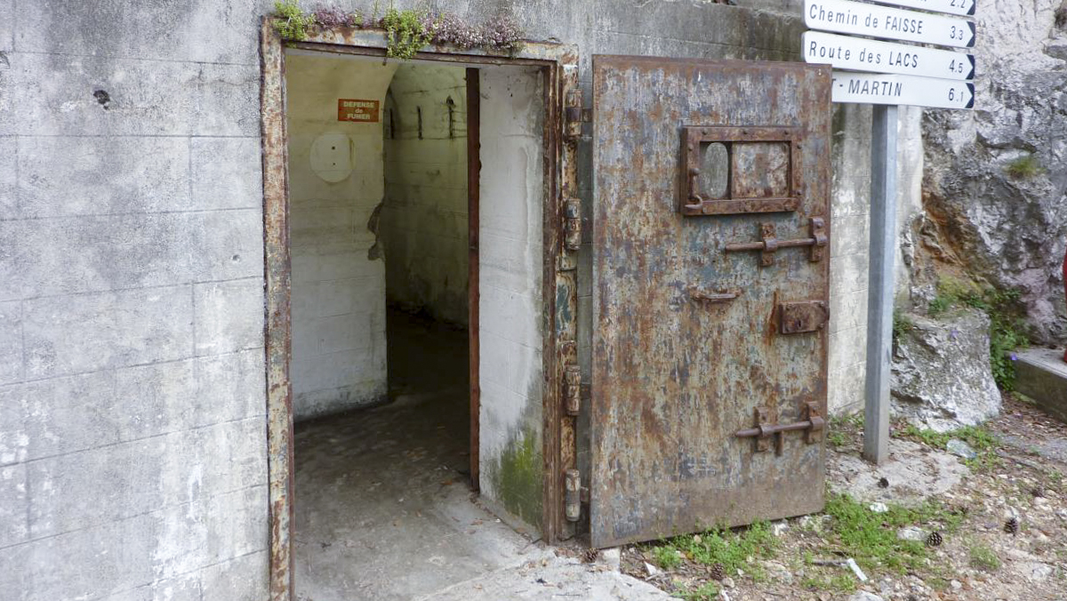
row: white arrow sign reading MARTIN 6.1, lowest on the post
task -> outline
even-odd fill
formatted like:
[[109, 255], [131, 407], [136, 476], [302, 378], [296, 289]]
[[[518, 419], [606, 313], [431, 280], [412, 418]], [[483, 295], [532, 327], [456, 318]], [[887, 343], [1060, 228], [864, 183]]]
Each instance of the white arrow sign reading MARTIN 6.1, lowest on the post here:
[[835, 70], [833, 101], [970, 109], [974, 107], [974, 84], [933, 77]]

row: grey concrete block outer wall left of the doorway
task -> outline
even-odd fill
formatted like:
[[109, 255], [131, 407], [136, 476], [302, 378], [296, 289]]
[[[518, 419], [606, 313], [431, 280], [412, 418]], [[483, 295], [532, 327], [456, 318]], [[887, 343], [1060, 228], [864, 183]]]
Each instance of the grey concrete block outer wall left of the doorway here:
[[260, 2], [139, 6], [0, 0], [5, 601], [266, 598]]

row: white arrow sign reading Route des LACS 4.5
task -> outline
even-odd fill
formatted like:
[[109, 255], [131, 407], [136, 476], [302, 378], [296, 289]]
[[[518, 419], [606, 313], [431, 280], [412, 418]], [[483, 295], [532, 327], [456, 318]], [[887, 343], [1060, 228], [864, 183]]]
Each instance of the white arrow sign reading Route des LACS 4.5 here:
[[837, 68], [974, 79], [974, 56], [821, 31], [803, 33], [803, 60]]

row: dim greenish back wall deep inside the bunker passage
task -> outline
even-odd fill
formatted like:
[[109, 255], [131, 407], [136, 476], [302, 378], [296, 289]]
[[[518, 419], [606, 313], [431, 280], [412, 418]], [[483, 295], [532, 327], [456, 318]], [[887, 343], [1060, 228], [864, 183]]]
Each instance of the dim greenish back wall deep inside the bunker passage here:
[[[451, 105], [448, 100], [451, 100]], [[385, 114], [386, 298], [467, 323], [464, 67], [401, 65]]]

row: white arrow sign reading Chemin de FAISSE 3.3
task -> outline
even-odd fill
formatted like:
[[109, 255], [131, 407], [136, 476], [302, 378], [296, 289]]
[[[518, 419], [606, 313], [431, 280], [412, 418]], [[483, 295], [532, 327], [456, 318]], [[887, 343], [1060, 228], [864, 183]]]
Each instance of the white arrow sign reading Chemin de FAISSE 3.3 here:
[[812, 29], [906, 39], [941, 46], [974, 46], [974, 23], [849, 0], [805, 0], [803, 20]]

